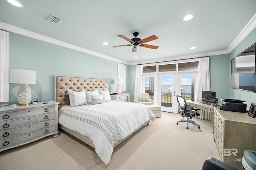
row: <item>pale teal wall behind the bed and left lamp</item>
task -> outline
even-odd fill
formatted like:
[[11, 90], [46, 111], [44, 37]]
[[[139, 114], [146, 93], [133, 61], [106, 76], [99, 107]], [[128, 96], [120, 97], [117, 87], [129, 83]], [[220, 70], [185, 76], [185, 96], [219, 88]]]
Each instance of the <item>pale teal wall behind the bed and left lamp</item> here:
[[[48, 42], [9, 32], [9, 69], [37, 71], [36, 84], [31, 84], [32, 100], [54, 100], [54, 76], [107, 78], [108, 90], [116, 92], [117, 62], [82, 53]], [[129, 65], [126, 82], [129, 82]], [[9, 105], [17, 104], [19, 84], [9, 84]], [[129, 92], [129, 83], [126, 91]]]

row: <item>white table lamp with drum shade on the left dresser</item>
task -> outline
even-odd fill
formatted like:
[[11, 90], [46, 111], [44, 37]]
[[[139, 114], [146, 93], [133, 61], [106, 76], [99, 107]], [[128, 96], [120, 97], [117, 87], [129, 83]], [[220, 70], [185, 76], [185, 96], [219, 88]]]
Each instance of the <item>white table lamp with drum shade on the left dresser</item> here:
[[21, 84], [17, 99], [20, 106], [29, 105], [31, 101], [31, 90], [28, 84], [36, 84], [36, 71], [10, 69], [9, 83]]

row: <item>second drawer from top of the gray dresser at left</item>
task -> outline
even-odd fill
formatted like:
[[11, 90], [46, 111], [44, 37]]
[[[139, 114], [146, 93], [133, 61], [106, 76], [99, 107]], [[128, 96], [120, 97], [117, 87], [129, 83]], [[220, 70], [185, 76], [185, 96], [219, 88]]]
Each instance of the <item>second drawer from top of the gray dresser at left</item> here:
[[37, 115], [34, 117], [27, 117], [24, 119], [14, 119], [10, 121], [0, 122], [0, 131], [4, 129], [16, 128], [16, 127], [23, 127], [27, 125], [31, 125], [34, 123], [52, 120], [55, 118], [54, 113], [48, 113], [43, 115]]

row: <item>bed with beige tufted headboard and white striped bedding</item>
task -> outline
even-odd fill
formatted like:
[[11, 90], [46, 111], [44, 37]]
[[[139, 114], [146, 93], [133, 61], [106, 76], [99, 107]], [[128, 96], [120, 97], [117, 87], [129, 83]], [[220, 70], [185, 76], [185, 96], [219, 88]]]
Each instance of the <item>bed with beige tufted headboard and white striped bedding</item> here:
[[115, 146], [155, 119], [143, 104], [109, 98], [107, 79], [55, 76], [59, 128], [94, 147], [105, 165]]

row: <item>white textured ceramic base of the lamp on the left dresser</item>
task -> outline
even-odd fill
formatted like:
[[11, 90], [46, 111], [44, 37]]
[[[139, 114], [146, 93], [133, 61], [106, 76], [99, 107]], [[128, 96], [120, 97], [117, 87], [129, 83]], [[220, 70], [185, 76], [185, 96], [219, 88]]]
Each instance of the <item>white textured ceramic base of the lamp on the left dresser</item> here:
[[20, 85], [20, 88], [17, 94], [17, 99], [20, 106], [29, 105], [31, 101], [31, 90], [28, 84]]

